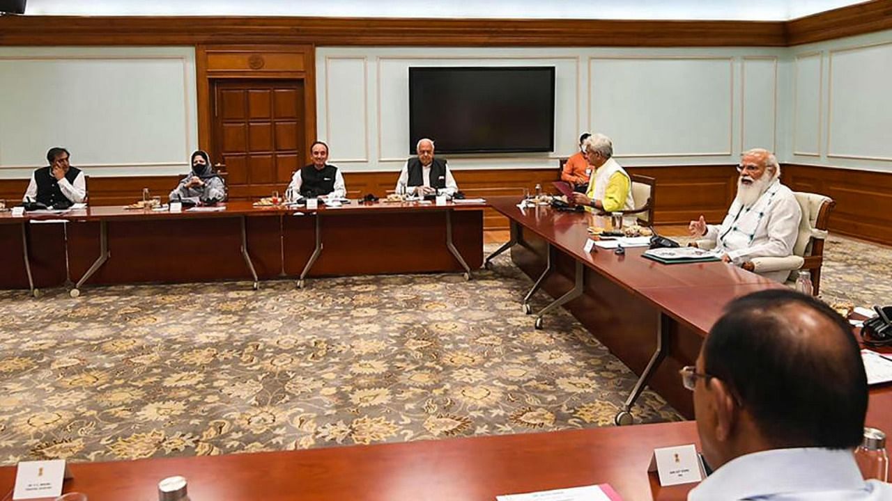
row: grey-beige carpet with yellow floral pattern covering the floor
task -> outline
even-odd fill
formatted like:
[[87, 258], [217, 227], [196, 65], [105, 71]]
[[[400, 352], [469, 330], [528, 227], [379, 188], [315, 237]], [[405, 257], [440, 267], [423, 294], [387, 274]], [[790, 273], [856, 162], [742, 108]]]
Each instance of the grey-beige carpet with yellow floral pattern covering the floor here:
[[[892, 250], [834, 236], [827, 253], [825, 297], [892, 297], [879, 278]], [[503, 256], [471, 282], [0, 292], [0, 464], [610, 425], [634, 374], [564, 312], [534, 330], [518, 302], [529, 286]], [[635, 415], [679, 419], [649, 391]]]

